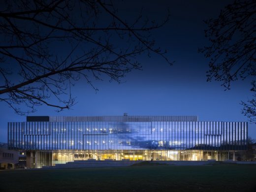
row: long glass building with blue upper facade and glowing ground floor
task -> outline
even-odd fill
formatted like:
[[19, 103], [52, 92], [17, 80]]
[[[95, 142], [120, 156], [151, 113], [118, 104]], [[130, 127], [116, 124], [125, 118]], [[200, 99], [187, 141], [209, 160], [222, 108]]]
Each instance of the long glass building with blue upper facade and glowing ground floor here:
[[247, 149], [247, 122], [197, 116], [31, 116], [8, 123], [8, 147], [27, 167], [74, 160], [234, 160]]

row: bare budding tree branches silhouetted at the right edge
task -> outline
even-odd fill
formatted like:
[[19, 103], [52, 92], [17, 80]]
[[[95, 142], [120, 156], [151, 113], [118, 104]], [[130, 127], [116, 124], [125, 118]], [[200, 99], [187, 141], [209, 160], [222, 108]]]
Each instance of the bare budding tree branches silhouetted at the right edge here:
[[[256, 76], [256, 1], [236, 0], [227, 5], [217, 19], [205, 21], [208, 29], [205, 36], [210, 46], [199, 49], [210, 58], [207, 81], [222, 82], [225, 89], [238, 79], [255, 79]], [[252, 81], [251, 91], [256, 92]], [[242, 113], [256, 122], [256, 94], [254, 98], [241, 102]]]

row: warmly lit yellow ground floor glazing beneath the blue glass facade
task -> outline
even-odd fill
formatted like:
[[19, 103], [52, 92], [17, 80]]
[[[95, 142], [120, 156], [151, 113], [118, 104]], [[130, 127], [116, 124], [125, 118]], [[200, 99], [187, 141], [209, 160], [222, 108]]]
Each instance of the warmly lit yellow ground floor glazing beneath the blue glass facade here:
[[233, 160], [234, 151], [204, 150], [54, 150], [27, 151], [27, 167], [41, 168], [74, 160]]

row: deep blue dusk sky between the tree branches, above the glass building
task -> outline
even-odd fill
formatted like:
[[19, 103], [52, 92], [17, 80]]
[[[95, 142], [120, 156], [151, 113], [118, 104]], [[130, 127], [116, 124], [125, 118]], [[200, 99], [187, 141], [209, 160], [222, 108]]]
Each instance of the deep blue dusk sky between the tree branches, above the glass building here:
[[[95, 91], [86, 81], [72, 87], [78, 102], [72, 110], [57, 113], [54, 108], [40, 106], [32, 116], [110, 116], [123, 115], [197, 115], [199, 121], [248, 121], [241, 114], [241, 100], [251, 98], [250, 79], [236, 81], [224, 91], [221, 82], [206, 82], [208, 60], [197, 52], [208, 45], [203, 20], [217, 18], [230, 0], [134, 0], [114, 2], [125, 18], [132, 18], [143, 7], [143, 14], [157, 21], [170, 10], [170, 21], [153, 32], [156, 43], [167, 49], [175, 63], [152, 55], [138, 57], [143, 70], [133, 70], [122, 83], [94, 81]], [[135, 8], [134, 8], [135, 5]], [[0, 141], [7, 142], [7, 122], [26, 121], [0, 102]], [[256, 125], [249, 123], [249, 136], [256, 139]]]

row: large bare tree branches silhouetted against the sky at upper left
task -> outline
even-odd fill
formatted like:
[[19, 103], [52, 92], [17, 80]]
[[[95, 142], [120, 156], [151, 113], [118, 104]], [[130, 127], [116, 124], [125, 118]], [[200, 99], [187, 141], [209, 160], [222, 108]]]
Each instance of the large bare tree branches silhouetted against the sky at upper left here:
[[[85, 78], [94, 89], [92, 79], [120, 82], [125, 73], [140, 69], [136, 56], [141, 53], [156, 53], [168, 62], [151, 31], [169, 16], [161, 24], [142, 13], [124, 19], [111, 0], [0, 4], [0, 101], [18, 114], [42, 104], [68, 109], [75, 104], [70, 86], [76, 81]], [[21, 103], [29, 110], [21, 110]]]

